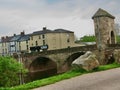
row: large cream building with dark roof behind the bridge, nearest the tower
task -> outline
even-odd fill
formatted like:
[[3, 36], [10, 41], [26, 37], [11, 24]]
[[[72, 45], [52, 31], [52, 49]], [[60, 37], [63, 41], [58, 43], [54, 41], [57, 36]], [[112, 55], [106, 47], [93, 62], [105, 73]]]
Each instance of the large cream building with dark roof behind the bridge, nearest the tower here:
[[[74, 32], [55, 29], [49, 30], [46, 27], [42, 31], [33, 32], [30, 36], [31, 50], [42, 50], [48, 46], [48, 50], [62, 49], [74, 46]], [[45, 48], [46, 48], [45, 47]]]

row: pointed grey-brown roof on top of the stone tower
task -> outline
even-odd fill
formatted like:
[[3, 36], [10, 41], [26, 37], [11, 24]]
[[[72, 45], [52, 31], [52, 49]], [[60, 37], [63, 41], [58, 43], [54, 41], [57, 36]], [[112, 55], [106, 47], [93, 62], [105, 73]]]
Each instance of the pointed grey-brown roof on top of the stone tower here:
[[112, 19], [115, 19], [115, 17], [113, 15], [111, 15], [110, 13], [108, 13], [107, 11], [105, 11], [101, 8], [98, 9], [98, 11], [92, 17], [92, 19], [94, 19], [96, 17], [110, 17]]

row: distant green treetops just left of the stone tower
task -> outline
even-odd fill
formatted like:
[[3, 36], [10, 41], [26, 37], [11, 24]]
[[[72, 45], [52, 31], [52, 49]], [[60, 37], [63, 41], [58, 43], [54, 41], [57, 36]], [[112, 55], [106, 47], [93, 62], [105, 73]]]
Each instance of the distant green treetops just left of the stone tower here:
[[83, 37], [80, 38], [80, 40], [77, 40], [76, 42], [95, 42], [96, 41], [96, 38], [94, 35], [85, 35]]

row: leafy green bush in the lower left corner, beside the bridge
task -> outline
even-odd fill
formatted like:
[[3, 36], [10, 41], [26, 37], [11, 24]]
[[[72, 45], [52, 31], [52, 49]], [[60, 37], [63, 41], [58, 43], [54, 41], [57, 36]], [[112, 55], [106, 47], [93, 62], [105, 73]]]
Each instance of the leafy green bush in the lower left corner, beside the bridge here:
[[0, 56], [0, 87], [19, 84], [19, 73], [25, 71], [23, 65], [12, 57]]

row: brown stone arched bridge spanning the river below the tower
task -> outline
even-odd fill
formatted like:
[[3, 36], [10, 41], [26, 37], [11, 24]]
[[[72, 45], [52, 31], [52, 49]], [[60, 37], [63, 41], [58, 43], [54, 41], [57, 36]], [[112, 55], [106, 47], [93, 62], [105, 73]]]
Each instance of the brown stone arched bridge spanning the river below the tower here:
[[[102, 53], [103, 55], [105, 55], [105, 53], [107, 53], [111, 55], [115, 49], [120, 49], [120, 45], [119, 44], [108, 45], [108, 47], [102, 51], [99, 51], [96, 45], [71, 47], [59, 50], [21, 54], [21, 57], [25, 67], [28, 68], [29, 71], [37, 71], [40, 69], [38, 67], [45, 64], [47, 65], [46, 67], [48, 68], [56, 67], [57, 71], [61, 72], [61, 70], [64, 71], [62, 68], [63, 66], [71, 65], [72, 61], [74, 61], [79, 56], [83, 55], [86, 51], [92, 51], [98, 56], [97, 58], [99, 59], [99, 54]], [[45, 67], [43, 66], [43, 68]], [[68, 67], [66, 67], [66, 69], [67, 68]]]

